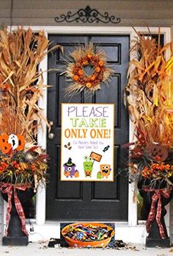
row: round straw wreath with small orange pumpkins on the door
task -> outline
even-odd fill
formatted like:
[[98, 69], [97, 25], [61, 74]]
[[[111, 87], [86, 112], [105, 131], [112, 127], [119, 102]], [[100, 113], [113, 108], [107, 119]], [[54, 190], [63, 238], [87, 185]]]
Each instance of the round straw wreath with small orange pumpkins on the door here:
[[[90, 66], [92, 74], [87, 74], [85, 68]], [[78, 46], [70, 53], [66, 68], [67, 81], [71, 85], [66, 89], [66, 95], [80, 93], [85, 90], [95, 93], [100, 89], [100, 84], [108, 82], [113, 74], [113, 69], [106, 63], [106, 53], [96, 51], [96, 47], [89, 43], [86, 47]]]

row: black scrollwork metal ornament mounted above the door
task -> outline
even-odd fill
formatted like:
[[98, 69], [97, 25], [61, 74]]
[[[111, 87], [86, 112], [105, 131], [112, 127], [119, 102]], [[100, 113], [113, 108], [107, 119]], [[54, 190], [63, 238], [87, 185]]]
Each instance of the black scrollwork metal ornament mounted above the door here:
[[120, 18], [116, 18], [114, 15], [108, 15], [108, 13], [100, 13], [97, 9], [92, 9], [91, 7], [89, 7], [89, 5], [87, 5], [87, 7], [85, 8], [81, 8], [79, 9], [76, 13], [71, 13], [70, 11], [67, 12], [67, 14], [62, 14], [59, 17], [54, 18], [54, 20], [56, 22], [73, 22], [75, 21], [76, 23], [78, 23], [79, 21], [83, 22], [83, 23], [112, 23], [112, 24], [119, 24], [119, 22], [121, 21]]

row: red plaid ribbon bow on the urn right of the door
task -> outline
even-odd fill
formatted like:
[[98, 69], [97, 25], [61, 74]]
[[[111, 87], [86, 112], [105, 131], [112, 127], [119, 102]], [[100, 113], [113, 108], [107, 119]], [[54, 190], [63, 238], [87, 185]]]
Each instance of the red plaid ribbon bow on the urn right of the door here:
[[[154, 221], [154, 219], [156, 219], [156, 221], [158, 223], [158, 228], [159, 228], [161, 238], [165, 239], [166, 235], [165, 235], [165, 232], [163, 229], [163, 225], [161, 224], [161, 196], [163, 196], [165, 198], [169, 198], [172, 188], [155, 189], [155, 188], [148, 188], [148, 187], [143, 186], [142, 190], [147, 191], [147, 192], [155, 192], [152, 195], [152, 203], [151, 203], [151, 207], [150, 207], [150, 213], [148, 215], [147, 222], [146, 222], [146, 230], [148, 233], [150, 232], [152, 221]], [[157, 211], [155, 208], [156, 202], [158, 202]]]

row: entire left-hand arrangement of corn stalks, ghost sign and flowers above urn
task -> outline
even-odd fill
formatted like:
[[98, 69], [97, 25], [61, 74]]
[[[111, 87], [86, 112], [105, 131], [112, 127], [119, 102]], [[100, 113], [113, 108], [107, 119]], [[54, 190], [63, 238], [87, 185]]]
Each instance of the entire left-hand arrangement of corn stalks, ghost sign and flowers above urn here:
[[33, 184], [45, 181], [46, 154], [37, 145], [43, 121], [38, 106], [43, 88], [43, 71], [38, 65], [48, 53], [43, 31], [22, 27], [0, 30], [0, 181]]

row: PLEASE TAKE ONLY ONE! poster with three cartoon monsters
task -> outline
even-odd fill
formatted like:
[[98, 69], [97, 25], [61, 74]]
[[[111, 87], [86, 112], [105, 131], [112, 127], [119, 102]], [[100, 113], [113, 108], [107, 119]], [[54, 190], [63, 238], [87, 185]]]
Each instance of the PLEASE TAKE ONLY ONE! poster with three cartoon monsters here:
[[62, 104], [61, 180], [114, 181], [114, 104]]

